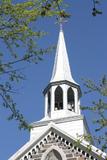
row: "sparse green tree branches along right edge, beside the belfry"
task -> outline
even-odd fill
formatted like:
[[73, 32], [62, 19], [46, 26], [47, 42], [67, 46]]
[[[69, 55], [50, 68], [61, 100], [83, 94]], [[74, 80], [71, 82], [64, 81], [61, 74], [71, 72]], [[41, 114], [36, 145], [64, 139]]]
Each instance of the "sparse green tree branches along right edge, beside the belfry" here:
[[99, 145], [102, 150], [107, 150], [107, 77], [104, 75], [97, 84], [92, 80], [84, 80], [84, 85], [87, 88], [85, 94], [96, 92], [97, 99], [92, 102], [90, 106], [82, 106], [83, 110], [94, 112], [95, 131], [99, 132], [98, 136], [94, 136], [95, 143]]

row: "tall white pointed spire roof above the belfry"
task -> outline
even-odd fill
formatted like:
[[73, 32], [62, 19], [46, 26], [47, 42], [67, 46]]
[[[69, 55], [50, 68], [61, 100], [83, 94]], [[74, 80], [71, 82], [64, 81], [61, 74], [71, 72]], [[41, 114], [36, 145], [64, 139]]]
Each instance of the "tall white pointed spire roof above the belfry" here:
[[71, 75], [69, 59], [64, 39], [64, 33], [62, 29], [62, 24], [60, 24], [60, 32], [56, 49], [56, 56], [50, 82], [63, 81], [63, 80], [76, 83]]

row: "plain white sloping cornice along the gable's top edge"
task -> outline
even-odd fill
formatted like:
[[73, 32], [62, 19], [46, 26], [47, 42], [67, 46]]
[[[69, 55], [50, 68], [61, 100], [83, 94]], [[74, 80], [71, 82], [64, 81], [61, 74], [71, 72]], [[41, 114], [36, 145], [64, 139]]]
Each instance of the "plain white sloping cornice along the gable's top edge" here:
[[[38, 142], [40, 142], [42, 140], [43, 137], [45, 137], [50, 131], [54, 131], [56, 133], [61, 134], [62, 136], [65, 137], [65, 139], [71, 141], [71, 142], [77, 142], [77, 139], [72, 137], [71, 135], [69, 135], [68, 133], [66, 133], [65, 131], [62, 131], [59, 127], [57, 127], [55, 125], [55, 123], [50, 122], [48, 124], [48, 128], [38, 137], [36, 137], [34, 140], [29, 141], [28, 143], [26, 143], [19, 151], [17, 151], [12, 157], [10, 157], [8, 160], [19, 160], [24, 154], [26, 154], [27, 152], [29, 152], [30, 149], [32, 149], [32, 147], [34, 147], [35, 145], [37, 145]], [[83, 148], [84, 150], [87, 151], [87, 146], [89, 145], [88, 142], [86, 141], [82, 141], [79, 146], [80, 148]], [[105, 157], [107, 157], [107, 154], [102, 152], [101, 150], [99, 150], [98, 148], [96, 148], [93, 145], [91, 146], [91, 151], [90, 154], [94, 154], [97, 157], [100, 157], [101, 160], [105, 160]]]

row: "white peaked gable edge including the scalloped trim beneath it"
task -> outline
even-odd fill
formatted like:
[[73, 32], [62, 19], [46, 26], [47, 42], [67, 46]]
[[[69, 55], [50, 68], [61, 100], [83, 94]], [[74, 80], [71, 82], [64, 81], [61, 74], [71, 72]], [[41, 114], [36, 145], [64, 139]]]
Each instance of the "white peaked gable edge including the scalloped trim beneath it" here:
[[54, 135], [54, 137], [56, 137], [57, 141], [59, 138], [59, 141], [63, 141], [63, 143], [65, 143], [66, 146], [69, 146], [69, 148], [71, 146], [74, 148], [74, 150], [77, 150], [78, 148], [78, 151], [81, 152], [84, 156], [91, 155], [91, 157], [96, 160], [105, 160], [107, 158], [107, 154], [102, 152], [95, 146], [90, 145], [85, 140], [78, 143], [78, 139], [75, 139], [71, 135], [59, 129], [53, 122], [50, 122], [48, 128], [41, 135], [36, 137], [36, 139], [27, 142], [8, 160], [23, 160], [24, 157], [32, 155], [33, 151], [35, 151], [36, 154], [36, 150], [40, 150], [43, 144], [48, 143], [48, 139], [52, 134]]

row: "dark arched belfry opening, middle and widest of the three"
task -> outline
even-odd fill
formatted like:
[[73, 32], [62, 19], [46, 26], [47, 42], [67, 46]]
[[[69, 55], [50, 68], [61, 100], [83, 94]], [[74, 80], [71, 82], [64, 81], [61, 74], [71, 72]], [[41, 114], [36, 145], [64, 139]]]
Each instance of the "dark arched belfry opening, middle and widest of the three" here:
[[63, 91], [60, 86], [55, 90], [55, 110], [63, 109]]

